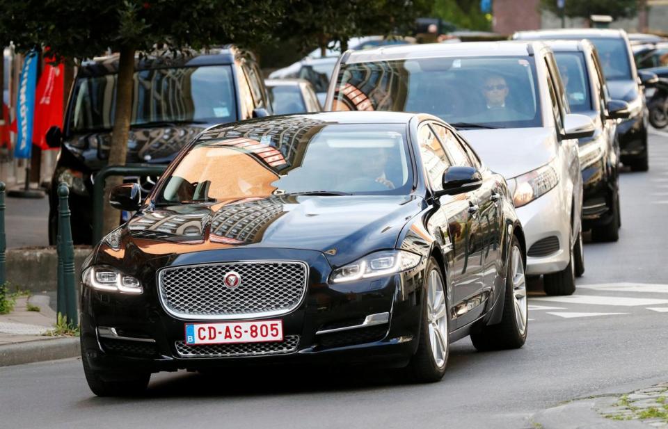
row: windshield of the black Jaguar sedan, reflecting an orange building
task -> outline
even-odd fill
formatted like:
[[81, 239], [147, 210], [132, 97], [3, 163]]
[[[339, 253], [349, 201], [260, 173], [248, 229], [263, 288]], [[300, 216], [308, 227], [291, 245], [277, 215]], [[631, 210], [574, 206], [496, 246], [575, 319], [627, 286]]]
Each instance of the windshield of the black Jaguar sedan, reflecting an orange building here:
[[155, 201], [407, 195], [413, 184], [409, 160], [403, 124], [327, 124], [308, 116], [251, 121], [202, 136], [175, 165]]

